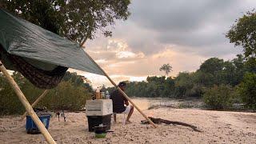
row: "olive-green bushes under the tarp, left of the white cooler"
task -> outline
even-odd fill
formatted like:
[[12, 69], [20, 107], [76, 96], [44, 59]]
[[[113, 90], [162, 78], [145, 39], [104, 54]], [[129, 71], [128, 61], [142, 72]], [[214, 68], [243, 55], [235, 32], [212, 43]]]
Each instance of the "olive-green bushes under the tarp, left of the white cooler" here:
[[[33, 86], [21, 74], [14, 72], [13, 78], [30, 103], [42, 94], [43, 90]], [[62, 82], [50, 90], [37, 107], [46, 106], [49, 110], [80, 110], [91, 94], [92, 88], [88, 83], [83, 82], [82, 76], [67, 72]], [[25, 109], [22, 103], [18, 100], [6, 78], [0, 74], [0, 115], [22, 114], [23, 112]]]

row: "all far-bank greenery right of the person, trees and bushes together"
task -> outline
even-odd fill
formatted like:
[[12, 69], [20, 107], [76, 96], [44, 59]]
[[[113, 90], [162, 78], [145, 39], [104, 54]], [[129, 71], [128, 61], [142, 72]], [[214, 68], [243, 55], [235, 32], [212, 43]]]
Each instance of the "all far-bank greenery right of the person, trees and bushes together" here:
[[203, 98], [210, 109], [227, 109], [234, 102], [255, 108], [256, 74], [250, 71], [241, 54], [231, 61], [209, 58], [195, 72], [180, 72], [174, 78], [153, 76], [146, 78], [146, 82], [127, 82], [126, 94], [147, 98]]

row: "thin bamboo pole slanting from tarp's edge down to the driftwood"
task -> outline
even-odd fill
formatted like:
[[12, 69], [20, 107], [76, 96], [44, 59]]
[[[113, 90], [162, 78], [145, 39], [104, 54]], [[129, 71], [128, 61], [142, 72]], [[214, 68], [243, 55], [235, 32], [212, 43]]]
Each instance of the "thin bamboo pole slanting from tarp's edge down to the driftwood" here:
[[[82, 46], [82, 45], [80, 45], [80, 46]], [[85, 52], [86, 52], [86, 51], [85, 51]], [[86, 53], [86, 54], [87, 54], [87, 53]], [[94, 61], [94, 59], [90, 57], [89, 54], [87, 54], [87, 55], [88, 55], [88, 57], [90, 58], [90, 60], [91, 60], [92, 62], [94, 62], [94, 64], [95, 64], [96, 66], [98, 66], [98, 63], [96, 63], [96, 62]], [[98, 68], [99, 68], [100, 70], [102, 70], [102, 73], [105, 74], [106, 78], [108, 78], [108, 79], [110, 80], [110, 82], [111, 82], [115, 87], [118, 87], [117, 84], [115, 84], [114, 81], [109, 77], [109, 75], [106, 74], [106, 72], [101, 68], [101, 66], [98, 66]], [[138, 112], [141, 113], [142, 116], [143, 116], [144, 118], [146, 118], [146, 120], [147, 120], [148, 122], [150, 122], [150, 124], [151, 124], [152, 126], [154, 126], [154, 128], [157, 127], [157, 126], [154, 124], [154, 122], [152, 122], [152, 121], [150, 120], [150, 118], [148, 118], [148, 117], [146, 116], [146, 114], [144, 114], [144, 113], [142, 112], [142, 110], [140, 110], [140, 109], [138, 108], [138, 106], [135, 105], [135, 103], [128, 97], [128, 95], [127, 95], [125, 92], [123, 92], [119, 87], [118, 87], [118, 90], [119, 90], [119, 91], [121, 92], [121, 94], [138, 110]]]

